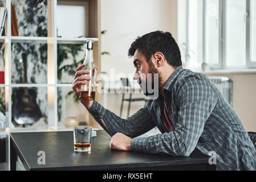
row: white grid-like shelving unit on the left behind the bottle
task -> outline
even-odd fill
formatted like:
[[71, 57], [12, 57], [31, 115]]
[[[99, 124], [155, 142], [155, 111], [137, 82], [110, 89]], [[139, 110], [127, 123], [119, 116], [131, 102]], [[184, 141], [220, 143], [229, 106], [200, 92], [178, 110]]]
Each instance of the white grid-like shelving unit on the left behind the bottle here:
[[[23, 1], [23, 0], [22, 0]], [[64, 0], [65, 2], [66, 0]], [[100, 0], [76, 0], [76, 2], [88, 2], [90, 6], [90, 30], [91, 38], [59, 38], [56, 35], [56, 11], [58, 0], [47, 0], [48, 9], [48, 36], [11, 36], [11, 0], [6, 0], [7, 14], [7, 35], [0, 36], [0, 42], [5, 43], [5, 84], [0, 84], [0, 88], [5, 88], [6, 104], [6, 129], [0, 130], [0, 135], [7, 135], [7, 163], [10, 169], [10, 137], [13, 132], [40, 132], [58, 130], [58, 95], [57, 89], [63, 87], [72, 87], [72, 84], [59, 84], [57, 75], [57, 45], [58, 44], [86, 44], [88, 39], [95, 41], [94, 59], [96, 66], [100, 68]], [[67, 1], [69, 4], [71, 1]], [[63, 0], [62, 0], [63, 3]], [[46, 84], [13, 84], [11, 82], [11, 43], [46, 43], [47, 44], [47, 83]], [[14, 87], [46, 87], [48, 102], [48, 128], [46, 130], [28, 130], [25, 128], [11, 128], [11, 93]]]

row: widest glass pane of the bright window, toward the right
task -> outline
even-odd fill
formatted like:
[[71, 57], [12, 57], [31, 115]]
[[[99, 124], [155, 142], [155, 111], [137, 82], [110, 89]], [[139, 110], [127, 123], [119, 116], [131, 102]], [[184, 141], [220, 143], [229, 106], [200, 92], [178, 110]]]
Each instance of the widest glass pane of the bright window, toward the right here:
[[225, 47], [226, 66], [246, 66], [246, 0], [226, 0]]

